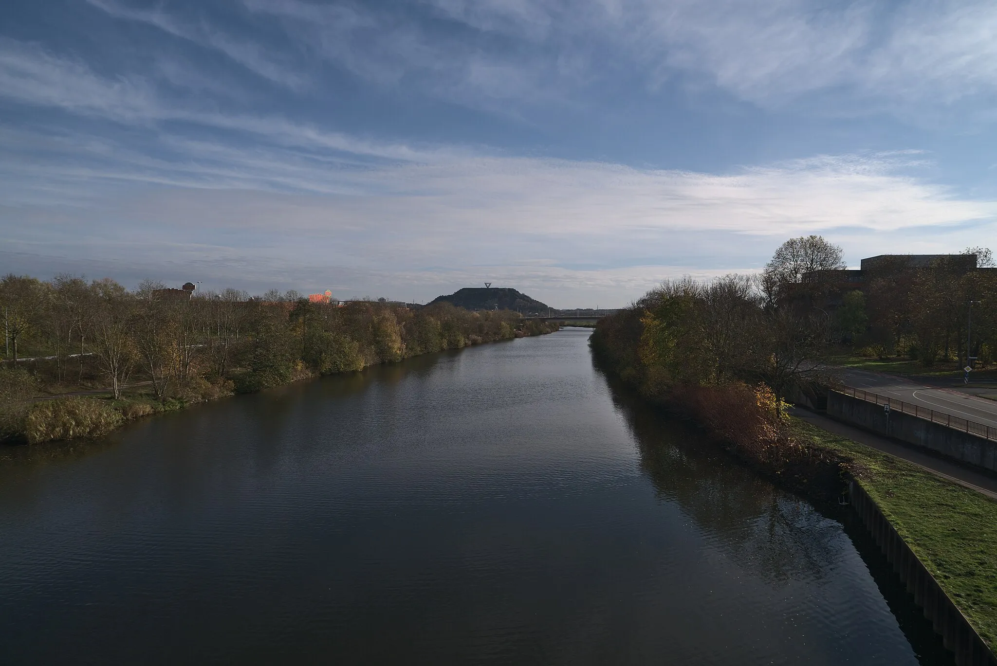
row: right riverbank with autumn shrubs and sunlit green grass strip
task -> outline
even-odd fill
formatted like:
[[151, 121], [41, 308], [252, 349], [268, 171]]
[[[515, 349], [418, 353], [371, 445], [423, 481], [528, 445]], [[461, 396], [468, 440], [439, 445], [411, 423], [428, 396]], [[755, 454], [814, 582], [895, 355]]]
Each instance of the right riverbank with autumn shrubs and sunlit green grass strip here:
[[592, 336], [607, 372], [697, 424], [759, 475], [807, 499], [844, 503], [848, 483], [857, 484], [967, 626], [991, 652], [997, 649], [997, 565], [989, 557], [997, 547], [997, 502], [791, 417], [764, 384], [676, 381], [684, 357], [669, 346], [674, 327], [648, 332], [646, 321], [655, 323], [649, 315], [624, 313], [600, 322]]

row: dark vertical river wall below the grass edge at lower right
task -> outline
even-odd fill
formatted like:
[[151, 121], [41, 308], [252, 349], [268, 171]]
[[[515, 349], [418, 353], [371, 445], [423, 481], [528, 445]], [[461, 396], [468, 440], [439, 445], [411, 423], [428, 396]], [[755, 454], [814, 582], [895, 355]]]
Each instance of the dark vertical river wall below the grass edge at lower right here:
[[848, 484], [848, 498], [893, 570], [906, 584], [907, 591], [914, 595], [914, 602], [924, 609], [924, 617], [931, 620], [935, 631], [941, 634], [945, 647], [955, 653], [955, 663], [958, 666], [997, 666], [997, 658], [983, 639], [896, 533], [875, 501], [854, 480]]

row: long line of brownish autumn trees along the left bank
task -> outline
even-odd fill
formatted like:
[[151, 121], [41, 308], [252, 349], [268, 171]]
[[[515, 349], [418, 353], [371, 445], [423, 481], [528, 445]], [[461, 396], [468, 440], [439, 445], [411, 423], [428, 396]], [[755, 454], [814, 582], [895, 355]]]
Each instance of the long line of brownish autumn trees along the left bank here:
[[[119, 400], [135, 385], [155, 401], [206, 400], [556, 329], [449, 303], [313, 303], [296, 292], [249, 298], [234, 289], [176, 298], [158, 294], [163, 288], [68, 275], [0, 279], [9, 349], [0, 400], [93, 388]], [[28, 355], [50, 358], [19, 360]]]

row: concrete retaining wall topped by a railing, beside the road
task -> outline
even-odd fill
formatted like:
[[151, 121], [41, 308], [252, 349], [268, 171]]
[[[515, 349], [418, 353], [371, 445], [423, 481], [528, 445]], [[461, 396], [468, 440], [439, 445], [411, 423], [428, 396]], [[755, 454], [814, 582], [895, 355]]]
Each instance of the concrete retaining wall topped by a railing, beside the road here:
[[997, 472], [997, 442], [831, 391], [828, 416], [886, 437], [936, 451], [963, 463]]

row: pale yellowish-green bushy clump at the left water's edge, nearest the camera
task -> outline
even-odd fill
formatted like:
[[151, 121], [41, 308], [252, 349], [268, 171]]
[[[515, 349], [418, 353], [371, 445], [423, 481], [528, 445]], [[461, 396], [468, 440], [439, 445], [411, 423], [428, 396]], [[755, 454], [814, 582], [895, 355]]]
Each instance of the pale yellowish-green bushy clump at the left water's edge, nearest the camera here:
[[101, 437], [121, 425], [121, 412], [92, 398], [63, 398], [35, 405], [24, 420], [28, 444]]

